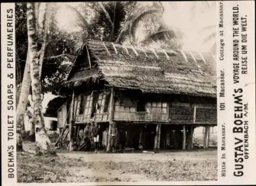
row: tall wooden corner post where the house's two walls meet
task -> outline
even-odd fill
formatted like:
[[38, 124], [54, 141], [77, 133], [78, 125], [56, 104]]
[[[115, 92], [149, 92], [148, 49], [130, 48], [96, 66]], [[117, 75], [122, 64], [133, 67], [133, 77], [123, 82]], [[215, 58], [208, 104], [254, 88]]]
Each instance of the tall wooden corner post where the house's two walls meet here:
[[109, 152], [111, 149], [111, 131], [112, 131], [113, 118], [114, 118], [114, 106], [115, 106], [114, 88], [111, 88], [110, 110], [109, 110], [109, 133], [108, 133], [108, 142], [106, 146], [107, 152]]

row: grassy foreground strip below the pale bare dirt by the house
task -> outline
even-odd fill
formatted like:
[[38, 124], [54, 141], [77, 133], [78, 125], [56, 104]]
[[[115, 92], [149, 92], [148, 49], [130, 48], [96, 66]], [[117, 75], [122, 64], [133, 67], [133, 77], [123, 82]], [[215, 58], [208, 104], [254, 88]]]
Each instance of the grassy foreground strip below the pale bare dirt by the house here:
[[26, 183], [217, 180], [217, 159], [87, 161], [75, 154], [42, 157], [23, 152], [17, 153], [17, 178]]

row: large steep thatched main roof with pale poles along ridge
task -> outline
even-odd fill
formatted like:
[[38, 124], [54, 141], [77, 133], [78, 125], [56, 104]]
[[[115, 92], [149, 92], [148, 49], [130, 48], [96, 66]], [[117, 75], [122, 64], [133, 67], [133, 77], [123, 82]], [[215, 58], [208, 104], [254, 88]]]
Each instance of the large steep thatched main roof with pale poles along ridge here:
[[104, 80], [109, 86], [142, 92], [216, 97], [215, 60], [205, 52], [152, 50], [89, 40], [67, 80], [75, 82], [73, 85]]

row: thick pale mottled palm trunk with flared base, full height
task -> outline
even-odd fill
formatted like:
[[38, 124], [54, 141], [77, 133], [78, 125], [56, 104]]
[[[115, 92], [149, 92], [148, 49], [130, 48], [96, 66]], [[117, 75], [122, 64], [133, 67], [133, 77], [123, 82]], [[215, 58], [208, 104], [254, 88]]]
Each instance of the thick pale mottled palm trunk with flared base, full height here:
[[39, 79], [39, 65], [37, 58], [37, 43], [36, 43], [36, 19], [35, 19], [35, 3], [27, 3], [27, 25], [28, 25], [28, 47], [31, 58], [31, 86], [33, 92], [33, 121], [35, 123], [35, 139], [36, 139], [36, 154], [46, 155], [56, 152], [47, 136], [45, 129], [45, 121], [42, 115], [41, 104], [41, 86]]

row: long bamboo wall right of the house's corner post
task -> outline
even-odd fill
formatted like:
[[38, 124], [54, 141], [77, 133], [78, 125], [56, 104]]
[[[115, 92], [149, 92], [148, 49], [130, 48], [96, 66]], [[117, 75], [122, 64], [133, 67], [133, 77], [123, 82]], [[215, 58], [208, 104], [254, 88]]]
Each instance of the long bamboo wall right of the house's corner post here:
[[114, 120], [217, 124], [216, 104], [151, 101], [148, 99], [145, 102], [145, 111], [137, 111], [138, 102], [139, 100], [127, 96], [116, 99]]

